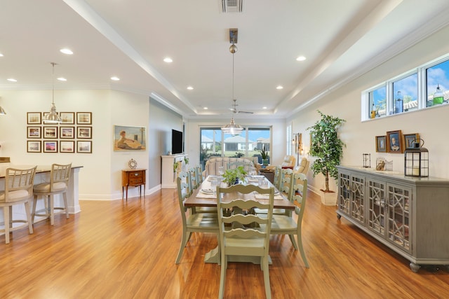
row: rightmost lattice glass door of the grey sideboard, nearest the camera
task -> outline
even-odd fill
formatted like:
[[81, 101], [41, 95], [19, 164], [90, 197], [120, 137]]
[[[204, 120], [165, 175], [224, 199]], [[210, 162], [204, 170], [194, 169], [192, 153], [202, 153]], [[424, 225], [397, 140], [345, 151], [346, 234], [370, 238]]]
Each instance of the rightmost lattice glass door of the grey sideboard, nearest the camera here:
[[410, 228], [410, 205], [411, 188], [398, 185], [387, 185], [387, 239], [395, 246], [411, 252]]

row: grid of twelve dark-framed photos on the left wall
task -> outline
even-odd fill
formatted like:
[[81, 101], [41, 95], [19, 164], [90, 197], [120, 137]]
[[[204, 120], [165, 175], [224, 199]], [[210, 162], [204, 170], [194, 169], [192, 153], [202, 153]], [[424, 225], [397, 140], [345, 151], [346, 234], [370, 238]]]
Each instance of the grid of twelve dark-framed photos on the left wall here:
[[43, 123], [48, 112], [27, 112], [28, 153], [92, 153], [92, 112], [60, 112], [62, 123]]

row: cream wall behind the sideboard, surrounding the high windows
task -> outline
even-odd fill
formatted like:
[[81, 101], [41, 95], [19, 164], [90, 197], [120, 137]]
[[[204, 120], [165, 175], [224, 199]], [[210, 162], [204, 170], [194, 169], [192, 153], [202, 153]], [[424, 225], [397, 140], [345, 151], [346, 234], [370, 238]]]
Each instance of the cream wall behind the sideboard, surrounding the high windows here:
[[[342, 165], [361, 167], [363, 165], [362, 154], [370, 153], [371, 167], [375, 167], [376, 157], [382, 156], [386, 160], [393, 161], [395, 171], [403, 172], [403, 154], [375, 152], [376, 136], [385, 135], [387, 131], [401, 130], [403, 134], [420, 134], [425, 141], [424, 147], [429, 150], [430, 175], [449, 179], [447, 151], [449, 139], [445, 138], [446, 128], [449, 127], [449, 105], [361, 122], [361, 92], [449, 53], [447, 36], [449, 36], [449, 27], [441, 29], [380, 67], [344, 85], [289, 118], [288, 121], [293, 121], [293, 132], [302, 132], [304, 153], [309, 151], [310, 144], [310, 135], [306, 128], [319, 119], [319, 113], [316, 110], [320, 110], [325, 114], [346, 120], [340, 130], [340, 138], [347, 145], [344, 148]], [[308, 179], [312, 190], [316, 191], [324, 187], [322, 175], [313, 178], [309, 172]], [[337, 190], [335, 182], [331, 183], [331, 187], [333, 190]]]

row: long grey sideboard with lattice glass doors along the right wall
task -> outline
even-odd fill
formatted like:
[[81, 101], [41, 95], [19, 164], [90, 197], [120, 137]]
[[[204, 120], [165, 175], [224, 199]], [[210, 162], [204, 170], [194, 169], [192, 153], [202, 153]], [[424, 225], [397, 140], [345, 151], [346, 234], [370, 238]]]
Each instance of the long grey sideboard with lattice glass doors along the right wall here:
[[338, 166], [337, 217], [420, 265], [449, 269], [449, 180]]

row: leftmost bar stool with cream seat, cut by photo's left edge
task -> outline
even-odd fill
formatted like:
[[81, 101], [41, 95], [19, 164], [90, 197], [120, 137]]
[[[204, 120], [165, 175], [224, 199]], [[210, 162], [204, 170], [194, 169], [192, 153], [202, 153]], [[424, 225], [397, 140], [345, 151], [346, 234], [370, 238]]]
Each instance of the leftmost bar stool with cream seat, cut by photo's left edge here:
[[[36, 167], [29, 169], [7, 168], [5, 176], [5, 190], [0, 191], [0, 207], [3, 207], [5, 228], [5, 242], [9, 244], [9, 233], [18, 230], [25, 225], [13, 228], [13, 223], [27, 223], [29, 233], [33, 233], [31, 215], [29, 214], [29, 202], [33, 197], [34, 174]], [[13, 220], [13, 205], [25, 204], [27, 220]]]

